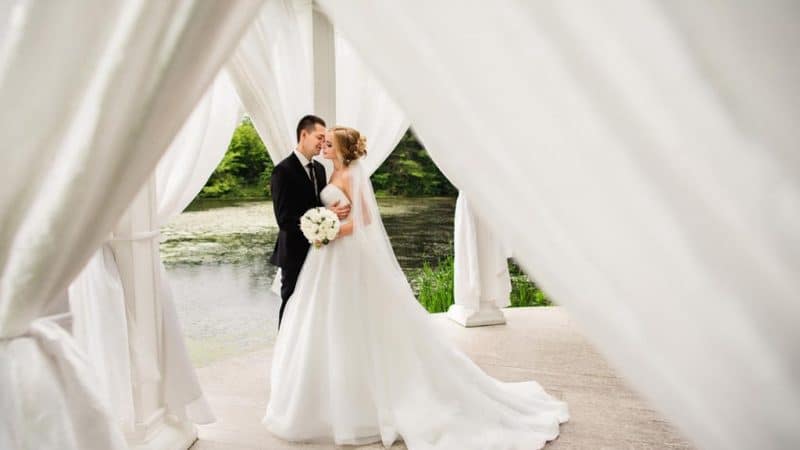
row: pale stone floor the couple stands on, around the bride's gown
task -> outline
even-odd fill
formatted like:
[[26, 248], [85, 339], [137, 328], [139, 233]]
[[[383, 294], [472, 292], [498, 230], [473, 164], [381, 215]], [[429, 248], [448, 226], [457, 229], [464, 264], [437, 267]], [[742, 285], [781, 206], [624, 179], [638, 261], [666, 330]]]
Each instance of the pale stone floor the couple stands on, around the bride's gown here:
[[[631, 392], [559, 307], [507, 309], [508, 323], [465, 329], [432, 319], [487, 373], [504, 381], [534, 379], [569, 403], [571, 419], [546, 450], [691, 449], [675, 429]], [[354, 448], [291, 444], [261, 426], [271, 349], [198, 370], [218, 422], [199, 427], [192, 450]], [[355, 447], [380, 449], [380, 444]], [[405, 449], [396, 443], [392, 449]]]

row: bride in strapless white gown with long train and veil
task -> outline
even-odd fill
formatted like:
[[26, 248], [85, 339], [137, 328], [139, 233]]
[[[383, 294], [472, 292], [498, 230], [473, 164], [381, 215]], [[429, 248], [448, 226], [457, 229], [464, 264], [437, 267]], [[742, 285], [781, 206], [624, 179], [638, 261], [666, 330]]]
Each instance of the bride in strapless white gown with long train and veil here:
[[383, 228], [352, 128], [327, 133], [320, 198], [350, 204], [339, 236], [311, 248], [275, 342], [264, 424], [304, 442], [398, 439], [417, 449], [535, 449], [558, 436], [566, 403], [535, 381], [486, 375], [437, 333]]

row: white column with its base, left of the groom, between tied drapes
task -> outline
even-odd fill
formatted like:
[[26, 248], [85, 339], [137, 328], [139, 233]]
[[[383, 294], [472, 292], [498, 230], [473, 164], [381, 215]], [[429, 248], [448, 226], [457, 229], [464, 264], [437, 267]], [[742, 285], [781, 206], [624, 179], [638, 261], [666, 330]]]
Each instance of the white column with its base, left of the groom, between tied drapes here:
[[131, 336], [130, 340], [137, 342], [143, 359], [152, 363], [145, 367], [139, 364], [131, 374], [135, 424], [133, 430], [126, 432], [126, 438], [131, 449], [183, 450], [191, 446], [197, 432], [193, 424], [178, 422], [165, 413], [155, 191], [155, 178], [151, 176], [123, 215], [111, 242], [125, 302], [133, 315], [129, 320], [136, 337]]

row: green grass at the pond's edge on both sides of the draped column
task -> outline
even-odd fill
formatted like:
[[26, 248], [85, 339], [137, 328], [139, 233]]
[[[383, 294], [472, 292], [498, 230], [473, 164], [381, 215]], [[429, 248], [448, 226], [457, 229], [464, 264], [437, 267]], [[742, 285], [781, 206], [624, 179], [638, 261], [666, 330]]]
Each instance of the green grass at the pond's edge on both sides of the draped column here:
[[[552, 304], [545, 293], [520, 270], [511, 263], [511, 307], [549, 306]], [[446, 312], [454, 303], [453, 295], [453, 256], [440, 260], [436, 267], [427, 263], [423, 266], [415, 281], [417, 299], [428, 312]]]

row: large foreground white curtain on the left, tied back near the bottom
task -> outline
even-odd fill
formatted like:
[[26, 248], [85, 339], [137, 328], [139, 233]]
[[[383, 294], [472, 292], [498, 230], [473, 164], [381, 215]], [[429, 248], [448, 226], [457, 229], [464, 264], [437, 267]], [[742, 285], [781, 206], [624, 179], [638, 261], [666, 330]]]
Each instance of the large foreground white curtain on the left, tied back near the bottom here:
[[0, 141], [14, 145], [0, 153], [0, 447], [125, 448], [72, 337], [37, 319], [66, 301], [258, 6], [30, 0], [0, 24]]

